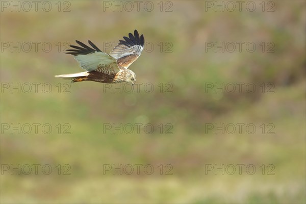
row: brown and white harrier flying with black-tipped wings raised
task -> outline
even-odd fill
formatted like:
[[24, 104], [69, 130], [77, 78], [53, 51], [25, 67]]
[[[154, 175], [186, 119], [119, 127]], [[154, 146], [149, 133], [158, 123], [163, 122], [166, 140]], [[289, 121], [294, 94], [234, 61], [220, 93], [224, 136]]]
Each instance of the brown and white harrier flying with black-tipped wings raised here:
[[76, 40], [80, 46], [70, 45], [73, 49], [67, 49], [67, 54], [85, 69], [84, 72], [56, 75], [56, 78], [71, 79], [72, 82], [94, 81], [101, 83], [127, 82], [132, 85], [136, 82], [136, 74], [127, 69], [140, 56], [144, 45], [143, 35], [139, 36], [137, 30], [134, 36], [123, 37], [110, 54], [102, 52], [90, 40], [88, 45]]

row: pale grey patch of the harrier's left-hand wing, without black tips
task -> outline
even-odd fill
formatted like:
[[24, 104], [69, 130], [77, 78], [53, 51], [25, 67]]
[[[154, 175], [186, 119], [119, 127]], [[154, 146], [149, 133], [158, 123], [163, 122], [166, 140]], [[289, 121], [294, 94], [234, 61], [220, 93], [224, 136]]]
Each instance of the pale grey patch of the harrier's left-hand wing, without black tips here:
[[87, 70], [93, 71], [98, 68], [98, 66], [109, 66], [112, 68], [113, 71], [119, 71], [119, 67], [117, 65], [116, 59], [112, 56], [103, 53], [103, 52], [94, 52], [87, 55], [77, 55], [73, 56], [75, 60], [80, 63], [80, 66]]

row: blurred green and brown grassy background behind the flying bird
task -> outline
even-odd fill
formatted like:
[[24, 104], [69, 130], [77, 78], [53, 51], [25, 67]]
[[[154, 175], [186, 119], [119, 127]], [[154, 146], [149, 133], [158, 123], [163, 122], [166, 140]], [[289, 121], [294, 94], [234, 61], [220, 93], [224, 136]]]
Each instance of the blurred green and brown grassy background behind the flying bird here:
[[[37, 11], [18, 2], [1, 2], [2, 203], [305, 203], [304, 1], [256, 1], [254, 11], [222, 1], [54, 1]], [[134, 29], [146, 47], [130, 68], [151, 93], [54, 78], [83, 71], [64, 53], [74, 40], [109, 53]], [[244, 45], [222, 52], [208, 42]], [[229, 83], [256, 90], [208, 89]], [[122, 131], [135, 123], [155, 131]], [[222, 124], [236, 131], [208, 129]], [[113, 165], [122, 175], [106, 171]]]

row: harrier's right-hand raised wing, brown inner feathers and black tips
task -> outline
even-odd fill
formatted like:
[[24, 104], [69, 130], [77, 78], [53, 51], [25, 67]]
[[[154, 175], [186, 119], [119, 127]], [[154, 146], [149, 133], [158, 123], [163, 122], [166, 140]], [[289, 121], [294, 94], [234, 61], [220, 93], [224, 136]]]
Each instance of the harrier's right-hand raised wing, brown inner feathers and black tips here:
[[134, 36], [129, 33], [129, 37], [123, 37], [124, 40], [119, 40], [119, 44], [114, 47], [110, 55], [117, 60], [119, 67], [129, 67], [140, 56], [144, 45], [144, 37], [137, 30], [134, 31]]

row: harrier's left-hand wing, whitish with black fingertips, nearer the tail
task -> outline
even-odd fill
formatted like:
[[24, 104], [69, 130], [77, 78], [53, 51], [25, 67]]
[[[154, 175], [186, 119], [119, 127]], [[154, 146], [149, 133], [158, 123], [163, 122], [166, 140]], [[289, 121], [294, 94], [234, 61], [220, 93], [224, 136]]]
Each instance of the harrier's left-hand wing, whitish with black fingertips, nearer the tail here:
[[87, 71], [100, 71], [104, 73], [117, 73], [120, 71], [115, 58], [102, 52], [95, 44], [90, 40], [88, 43], [93, 47], [89, 47], [86, 44], [76, 40], [80, 46], [70, 45], [74, 49], [67, 49], [67, 54], [73, 55], [80, 66]]

